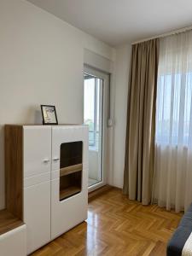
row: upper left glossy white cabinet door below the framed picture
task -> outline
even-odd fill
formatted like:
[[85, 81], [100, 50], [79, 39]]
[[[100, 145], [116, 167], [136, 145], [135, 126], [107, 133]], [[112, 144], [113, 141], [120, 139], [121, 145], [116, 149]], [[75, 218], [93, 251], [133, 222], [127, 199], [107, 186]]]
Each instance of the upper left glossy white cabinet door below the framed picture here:
[[50, 172], [51, 126], [24, 126], [24, 177]]

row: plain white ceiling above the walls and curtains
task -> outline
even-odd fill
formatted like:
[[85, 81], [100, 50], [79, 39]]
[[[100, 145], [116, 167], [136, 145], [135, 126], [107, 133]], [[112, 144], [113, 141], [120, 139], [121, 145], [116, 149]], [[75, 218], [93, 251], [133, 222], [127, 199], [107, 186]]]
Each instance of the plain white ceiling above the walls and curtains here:
[[27, 0], [110, 45], [192, 25], [191, 0]]

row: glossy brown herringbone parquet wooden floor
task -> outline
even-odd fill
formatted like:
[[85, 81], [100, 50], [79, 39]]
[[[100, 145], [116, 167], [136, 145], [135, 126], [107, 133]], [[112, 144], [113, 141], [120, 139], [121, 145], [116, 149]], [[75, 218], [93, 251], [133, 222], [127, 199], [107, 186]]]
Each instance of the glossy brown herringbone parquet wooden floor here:
[[144, 207], [110, 189], [90, 201], [86, 222], [32, 256], [163, 256], [181, 217], [156, 205]]

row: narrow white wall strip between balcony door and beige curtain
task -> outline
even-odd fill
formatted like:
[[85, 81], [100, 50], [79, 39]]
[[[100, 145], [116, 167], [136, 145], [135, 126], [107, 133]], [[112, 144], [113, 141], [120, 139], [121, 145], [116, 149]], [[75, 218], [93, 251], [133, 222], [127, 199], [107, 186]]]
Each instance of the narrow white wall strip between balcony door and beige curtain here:
[[128, 79], [131, 61], [131, 45], [116, 49], [115, 107], [113, 131], [113, 185], [123, 187], [125, 164], [125, 130], [127, 112]]

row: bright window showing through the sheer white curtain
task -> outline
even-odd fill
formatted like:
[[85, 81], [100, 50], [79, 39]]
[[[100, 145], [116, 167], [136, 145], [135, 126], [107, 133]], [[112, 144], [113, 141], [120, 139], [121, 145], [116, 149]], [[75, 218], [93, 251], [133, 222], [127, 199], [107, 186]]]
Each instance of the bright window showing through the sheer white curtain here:
[[[191, 97], [192, 73], [176, 73], [159, 77], [156, 123], [158, 143], [188, 144]], [[181, 125], [183, 130], [179, 134]]]

